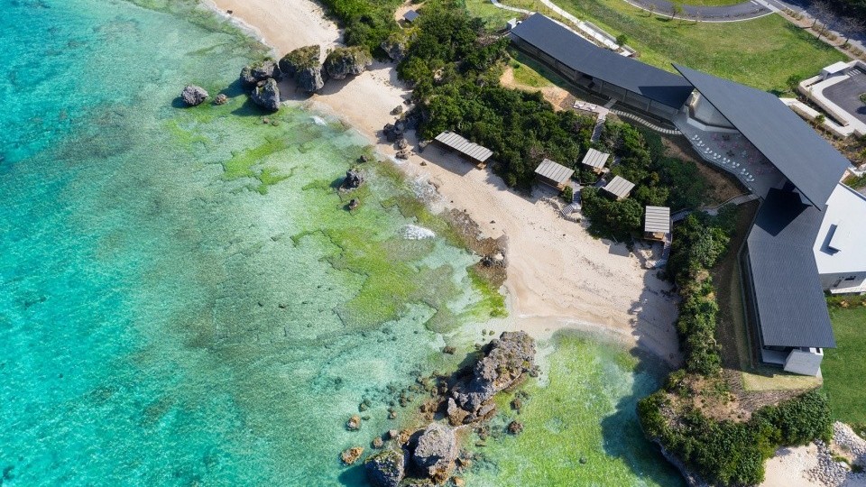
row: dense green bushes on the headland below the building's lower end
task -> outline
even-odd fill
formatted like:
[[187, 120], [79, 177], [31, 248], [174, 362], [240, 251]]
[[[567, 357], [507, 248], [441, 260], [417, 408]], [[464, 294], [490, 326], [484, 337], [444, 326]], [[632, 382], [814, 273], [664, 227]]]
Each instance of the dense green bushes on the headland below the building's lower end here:
[[[638, 415], [648, 436], [708, 482], [757, 485], [764, 480], [764, 460], [779, 446], [832, 436], [830, 406], [821, 391], [758, 409], [748, 421], [718, 421], [684, 401], [671, 400], [671, 394], [678, 393], [679, 379], [672, 374], [666, 390], [640, 400]], [[668, 415], [677, 417], [676, 424]]]

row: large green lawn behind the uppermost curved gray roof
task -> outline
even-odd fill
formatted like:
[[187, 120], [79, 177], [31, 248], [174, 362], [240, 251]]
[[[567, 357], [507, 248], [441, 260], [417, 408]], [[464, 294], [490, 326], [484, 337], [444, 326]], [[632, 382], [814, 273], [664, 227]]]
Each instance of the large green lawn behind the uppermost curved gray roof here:
[[559, 0], [557, 5], [614, 36], [626, 34], [644, 62], [669, 70], [677, 62], [765, 90], [784, 90], [789, 76], [811, 77], [845, 59], [778, 15], [694, 23], [650, 15], [623, 0]]

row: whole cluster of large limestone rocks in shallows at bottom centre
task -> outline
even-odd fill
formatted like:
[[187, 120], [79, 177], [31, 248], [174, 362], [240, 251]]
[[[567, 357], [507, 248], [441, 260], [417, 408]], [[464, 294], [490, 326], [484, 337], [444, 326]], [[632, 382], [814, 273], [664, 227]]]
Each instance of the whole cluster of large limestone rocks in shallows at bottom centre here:
[[[381, 451], [364, 460], [373, 487], [440, 484], [449, 479], [462, 484], [463, 479], [453, 477], [456, 465], [466, 467], [471, 459], [461, 453], [460, 437], [473, 428], [489, 428], [484, 421], [496, 414], [493, 398], [537, 374], [535, 354], [530, 335], [504, 332], [481, 348], [480, 358], [472, 365], [450, 376], [439, 376], [438, 384], [422, 381], [430, 399], [420, 412], [428, 426], [415, 431], [391, 430], [373, 440], [373, 448]], [[512, 434], [521, 428], [509, 427]], [[358, 460], [354, 455], [358, 448], [346, 450], [344, 460]]]

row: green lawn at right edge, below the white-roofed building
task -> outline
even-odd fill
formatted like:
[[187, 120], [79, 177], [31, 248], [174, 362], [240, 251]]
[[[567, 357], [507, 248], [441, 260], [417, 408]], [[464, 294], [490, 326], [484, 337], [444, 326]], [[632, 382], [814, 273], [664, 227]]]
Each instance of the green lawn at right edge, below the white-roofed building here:
[[849, 299], [849, 308], [830, 304], [838, 348], [825, 351], [821, 372], [834, 417], [866, 425], [866, 307]]

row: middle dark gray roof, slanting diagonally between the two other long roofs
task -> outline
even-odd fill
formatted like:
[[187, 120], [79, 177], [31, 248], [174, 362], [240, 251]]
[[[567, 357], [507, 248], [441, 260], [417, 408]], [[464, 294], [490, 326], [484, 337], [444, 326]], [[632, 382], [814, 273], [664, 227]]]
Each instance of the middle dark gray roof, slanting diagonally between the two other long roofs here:
[[777, 96], [695, 69], [674, 67], [815, 207], [824, 209], [850, 161]]

